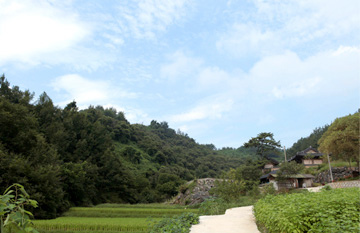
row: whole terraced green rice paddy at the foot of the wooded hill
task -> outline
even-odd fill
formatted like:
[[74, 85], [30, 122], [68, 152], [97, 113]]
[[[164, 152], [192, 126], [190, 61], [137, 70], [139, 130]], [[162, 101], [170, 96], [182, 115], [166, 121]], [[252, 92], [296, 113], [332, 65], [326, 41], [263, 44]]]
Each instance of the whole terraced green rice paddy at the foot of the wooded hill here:
[[74, 207], [57, 219], [33, 222], [40, 233], [140, 233], [147, 232], [150, 225], [164, 217], [197, 211], [165, 204], [102, 204], [95, 207]]

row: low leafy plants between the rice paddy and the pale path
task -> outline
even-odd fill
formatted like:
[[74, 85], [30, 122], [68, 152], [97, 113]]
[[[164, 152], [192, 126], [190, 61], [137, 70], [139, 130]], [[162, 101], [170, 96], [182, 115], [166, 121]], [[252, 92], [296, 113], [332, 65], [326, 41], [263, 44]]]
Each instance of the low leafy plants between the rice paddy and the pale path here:
[[173, 232], [188, 233], [191, 225], [199, 223], [199, 216], [194, 213], [184, 213], [176, 218], [165, 218], [151, 227], [150, 233]]

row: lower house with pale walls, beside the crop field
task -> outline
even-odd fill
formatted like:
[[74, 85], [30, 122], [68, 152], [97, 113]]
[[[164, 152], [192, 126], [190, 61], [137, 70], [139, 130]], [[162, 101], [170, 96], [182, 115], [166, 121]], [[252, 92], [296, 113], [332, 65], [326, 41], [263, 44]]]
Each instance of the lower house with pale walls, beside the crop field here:
[[308, 188], [312, 187], [313, 179], [315, 178], [311, 174], [295, 174], [295, 175], [289, 175], [285, 180], [283, 181], [277, 181], [276, 177], [278, 177], [278, 174], [268, 174], [267, 179], [270, 183], [273, 183], [274, 188], [276, 190], [279, 190], [281, 188]]

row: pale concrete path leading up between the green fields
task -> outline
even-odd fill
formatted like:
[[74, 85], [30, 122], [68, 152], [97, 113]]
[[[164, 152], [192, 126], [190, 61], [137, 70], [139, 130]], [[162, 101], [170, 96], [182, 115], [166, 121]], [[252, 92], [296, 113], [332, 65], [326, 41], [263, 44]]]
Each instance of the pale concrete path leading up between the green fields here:
[[200, 216], [200, 223], [193, 225], [190, 233], [258, 233], [253, 206], [226, 210], [224, 215]]

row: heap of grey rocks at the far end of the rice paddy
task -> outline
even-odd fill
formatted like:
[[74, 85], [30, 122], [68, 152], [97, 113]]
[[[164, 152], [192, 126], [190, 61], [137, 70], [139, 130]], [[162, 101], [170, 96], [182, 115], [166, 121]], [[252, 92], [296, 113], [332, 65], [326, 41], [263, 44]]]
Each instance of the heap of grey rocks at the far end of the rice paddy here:
[[173, 204], [195, 205], [205, 201], [205, 199], [212, 197], [209, 191], [215, 186], [216, 180], [219, 179], [204, 178], [189, 181], [175, 197]]

